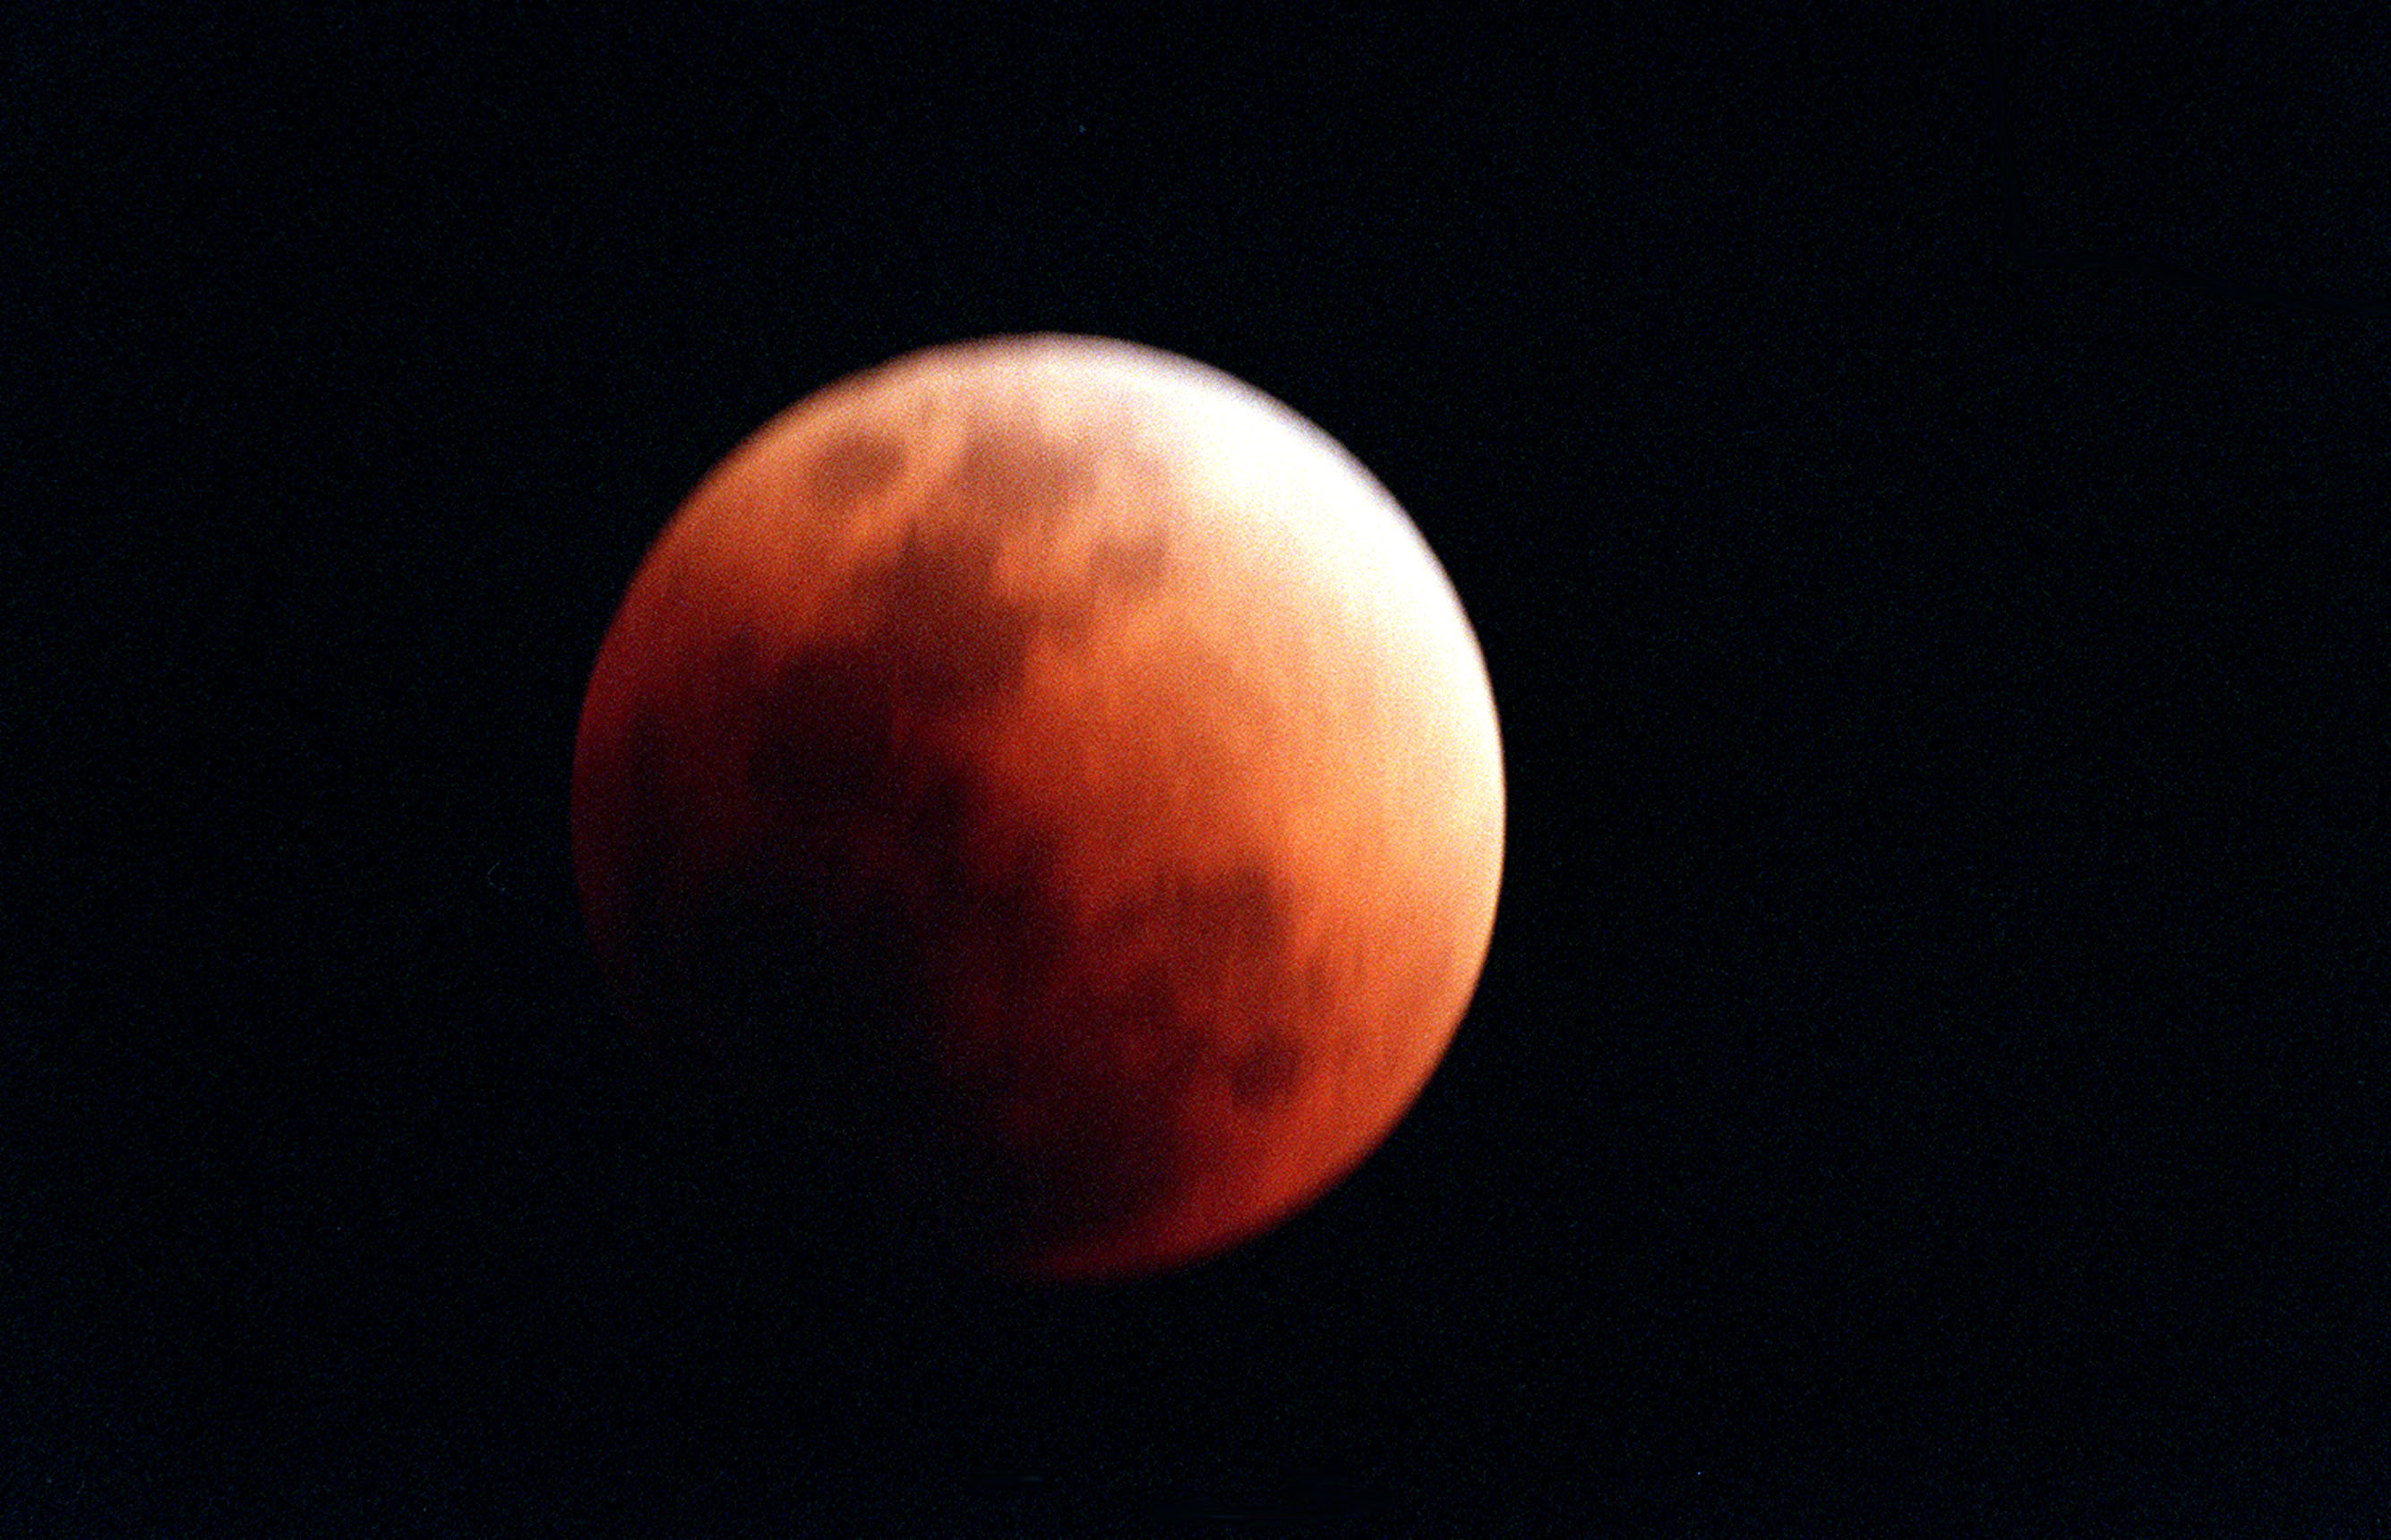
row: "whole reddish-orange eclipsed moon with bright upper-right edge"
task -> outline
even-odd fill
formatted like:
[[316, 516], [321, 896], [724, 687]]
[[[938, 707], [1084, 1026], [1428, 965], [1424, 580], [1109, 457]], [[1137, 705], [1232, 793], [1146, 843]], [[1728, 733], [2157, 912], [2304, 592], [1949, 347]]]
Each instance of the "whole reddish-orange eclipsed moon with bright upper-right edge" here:
[[1478, 638], [1320, 428], [1126, 342], [799, 402], [607, 629], [571, 787], [634, 1033], [899, 1246], [1112, 1279], [1248, 1241], [1420, 1095], [1478, 988]]

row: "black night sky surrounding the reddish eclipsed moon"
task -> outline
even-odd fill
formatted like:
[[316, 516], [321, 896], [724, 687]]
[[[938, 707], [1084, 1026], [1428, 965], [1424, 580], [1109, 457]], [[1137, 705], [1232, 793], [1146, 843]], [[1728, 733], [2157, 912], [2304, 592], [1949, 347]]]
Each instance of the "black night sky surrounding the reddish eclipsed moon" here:
[[[0, 1528], [2391, 1504], [2372, 7], [50, 10]], [[579, 691], [739, 438], [1021, 330], [1205, 359], [1404, 500], [1504, 906], [1296, 1224], [825, 1296], [598, 997]]]

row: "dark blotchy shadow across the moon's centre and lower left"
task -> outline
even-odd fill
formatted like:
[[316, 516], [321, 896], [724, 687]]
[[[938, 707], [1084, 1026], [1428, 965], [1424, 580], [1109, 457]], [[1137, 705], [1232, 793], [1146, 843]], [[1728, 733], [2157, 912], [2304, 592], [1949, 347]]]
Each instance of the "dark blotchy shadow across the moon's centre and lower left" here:
[[[858, 435], [818, 490], [870, 495], [901, 450]], [[849, 591], [837, 641], [768, 667], [727, 646], [708, 698], [736, 703], [770, 832], [689, 897], [662, 775], [672, 727], [634, 720], [622, 818], [638, 839], [617, 976], [658, 1057], [715, 1107], [756, 1181], [825, 1258], [944, 1267], [1131, 1234], [1203, 1177], [1179, 1112], [1203, 1081], [1267, 1114], [1320, 1069], [1305, 1021], [1327, 983], [1286, 957], [1260, 861], [1157, 870], [1133, 902], [1078, 916], [1064, 830], [942, 732], [1023, 689], [1033, 643], [1169, 576], [1164, 521], [1100, 548], [1076, 591], [999, 591], [990, 533], [1086, 490], [1069, 447], [980, 435], [916, 526]], [[1301, 1019], [1298, 1019], [1301, 1016]], [[1200, 1098], [1196, 1098], [1200, 1100]]]

